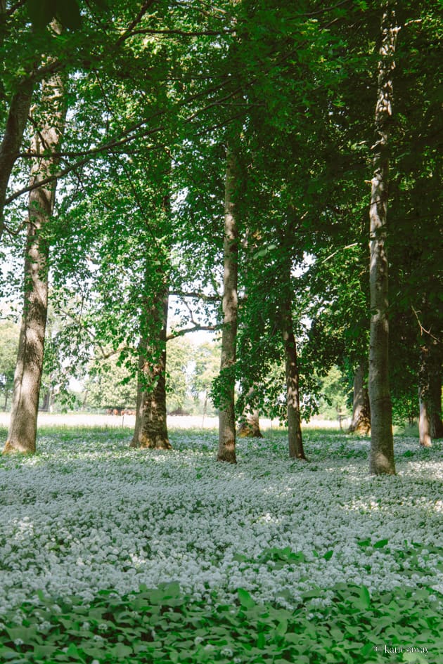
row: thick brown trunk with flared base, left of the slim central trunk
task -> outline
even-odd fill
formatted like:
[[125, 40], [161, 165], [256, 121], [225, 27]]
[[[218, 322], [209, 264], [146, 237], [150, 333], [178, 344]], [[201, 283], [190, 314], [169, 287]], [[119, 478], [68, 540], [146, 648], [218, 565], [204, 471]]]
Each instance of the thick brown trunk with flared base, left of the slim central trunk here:
[[167, 292], [164, 282], [148, 311], [150, 333], [140, 348], [132, 448], [171, 449], [166, 422]]

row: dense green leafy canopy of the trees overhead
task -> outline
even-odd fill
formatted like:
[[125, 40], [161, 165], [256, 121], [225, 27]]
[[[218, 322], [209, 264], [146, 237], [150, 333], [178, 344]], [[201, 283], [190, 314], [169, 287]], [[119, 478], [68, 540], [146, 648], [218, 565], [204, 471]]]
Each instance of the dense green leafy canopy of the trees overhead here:
[[[65, 332], [53, 335], [60, 352], [79, 367], [94, 353], [112, 357], [140, 377], [141, 351], [154, 366], [167, 339], [223, 328], [232, 155], [238, 332], [230, 371], [238, 410], [285, 417], [282, 329], [289, 326], [297, 417], [308, 418], [331, 367], [350, 382], [367, 365], [368, 183], [380, 129], [382, 19], [394, 10], [383, 146], [388, 369], [394, 413], [418, 412], [418, 388], [428, 403], [428, 382], [441, 382], [442, 365], [437, 1], [1, 3], [1, 234], [11, 256], [4, 297], [21, 287], [11, 261], [23, 254], [27, 197], [53, 183], [56, 205], [41, 235], [51, 306], [65, 320]], [[45, 82], [56, 75], [67, 109], [63, 143], [36, 148], [33, 137], [51, 124]], [[44, 160], [49, 170], [30, 180]], [[160, 291], [179, 311], [163, 341]], [[198, 372], [207, 391], [200, 365]], [[212, 387], [216, 403], [224, 375]], [[146, 377], [141, 387], [151, 389]], [[183, 386], [169, 389], [179, 407]], [[428, 410], [441, 410], [433, 399]]]

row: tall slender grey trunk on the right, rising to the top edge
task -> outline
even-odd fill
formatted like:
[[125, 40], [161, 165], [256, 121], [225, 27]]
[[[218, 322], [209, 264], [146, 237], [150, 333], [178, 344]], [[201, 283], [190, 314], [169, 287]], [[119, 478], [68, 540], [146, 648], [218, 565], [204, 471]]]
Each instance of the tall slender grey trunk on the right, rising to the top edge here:
[[369, 402], [371, 407], [371, 474], [395, 474], [392, 405], [388, 366], [388, 262], [387, 200], [389, 133], [392, 117], [392, 74], [397, 41], [394, 8], [387, 3], [382, 21], [382, 44], [378, 65], [378, 99], [375, 107], [373, 145], [374, 174], [370, 208], [371, 334], [369, 342]]

